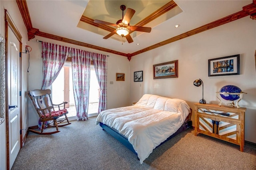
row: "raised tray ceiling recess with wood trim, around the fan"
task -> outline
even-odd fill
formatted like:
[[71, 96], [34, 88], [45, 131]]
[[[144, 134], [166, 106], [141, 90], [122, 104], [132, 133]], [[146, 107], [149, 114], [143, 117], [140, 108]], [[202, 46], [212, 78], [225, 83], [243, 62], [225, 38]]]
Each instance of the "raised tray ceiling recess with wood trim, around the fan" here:
[[[175, 10], [171, 10], [173, 8]], [[131, 43], [132, 38], [150, 32], [150, 28], [153, 29], [181, 12], [175, 2], [170, 0], [89, 1], [77, 27], [102, 35], [104, 39]], [[128, 31], [128, 36], [123, 38], [118, 35], [118, 27]]]

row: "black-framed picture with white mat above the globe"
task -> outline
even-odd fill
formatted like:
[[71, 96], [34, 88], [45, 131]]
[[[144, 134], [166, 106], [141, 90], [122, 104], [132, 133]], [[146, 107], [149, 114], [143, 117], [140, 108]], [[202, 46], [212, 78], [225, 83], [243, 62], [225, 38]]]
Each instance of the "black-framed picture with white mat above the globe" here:
[[240, 74], [240, 55], [231, 55], [208, 60], [208, 76]]

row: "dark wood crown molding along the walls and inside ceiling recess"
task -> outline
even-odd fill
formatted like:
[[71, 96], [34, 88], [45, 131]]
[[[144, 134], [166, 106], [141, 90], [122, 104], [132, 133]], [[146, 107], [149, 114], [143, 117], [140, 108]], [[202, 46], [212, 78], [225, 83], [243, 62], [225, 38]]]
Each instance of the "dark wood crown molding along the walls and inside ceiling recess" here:
[[[83, 42], [76, 41], [76, 40], [73, 40], [73, 39], [68, 39], [68, 38], [65, 38], [65, 37], [60, 37], [58, 35], [52, 35], [52, 34], [49, 34], [49, 33], [41, 32], [41, 31], [39, 31], [39, 29], [36, 29], [36, 28], [32, 27], [32, 23], [31, 23], [31, 20], [30, 20], [30, 15], [29, 15], [29, 12], [28, 12], [26, 0], [16, 0], [16, 2], [18, 4], [19, 10], [20, 10], [20, 14], [22, 15], [24, 24], [26, 25], [26, 28], [27, 28], [27, 31], [28, 31], [28, 39], [29, 40], [33, 39], [35, 37], [35, 35], [38, 35], [38, 36], [41, 36], [41, 37], [46, 37], [46, 38], [49, 38], [49, 39], [55, 39], [55, 40], [58, 40], [58, 41], [62, 41], [62, 42], [65, 42], [65, 43], [71, 43], [71, 44], [74, 44], [74, 45], [80, 45], [82, 47], [87, 47], [87, 48], [96, 49], [96, 50], [99, 50], [99, 51], [104, 51], [104, 52], [113, 53], [113, 54], [116, 54], [116, 55], [121, 55], [121, 56], [127, 57], [127, 59], [129, 61], [130, 61], [130, 59], [134, 55], [138, 55], [140, 53], [144, 53], [146, 51], [150, 51], [152, 49], [156, 49], [158, 47], [162, 47], [163, 45], [167, 45], [167, 44], [172, 43], [174, 41], [178, 41], [180, 39], [184, 39], [186, 37], [195, 35], [197, 33], [201, 33], [201, 32], [206, 31], [208, 29], [212, 29], [214, 27], [218, 27], [218, 26], [223, 25], [225, 23], [229, 23], [229, 22], [238, 20], [238, 19], [246, 17], [248, 15], [250, 15], [250, 18], [252, 18], [254, 20], [256, 19], [256, 0], [253, 0], [252, 4], [244, 6], [242, 11], [236, 12], [235, 14], [232, 14], [230, 16], [226, 16], [224, 18], [221, 18], [220, 20], [213, 21], [211, 23], [208, 23], [208, 24], [203, 25], [201, 27], [198, 27], [196, 29], [192, 29], [191, 31], [188, 31], [186, 33], [182, 33], [182, 34], [177, 35], [175, 37], [172, 37], [170, 39], [166, 39], [165, 41], [156, 43], [154, 45], [151, 45], [149, 47], [146, 47], [146, 48], [141, 49], [139, 51], [136, 51], [134, 53], [127, 53], [126, 54], [126, 53], [121, 53], [119, 51], [114, 51], [114, 50], [111, 50], [111, 49], [106, 49], [106, 48], [103, 48], [103, 47], [98, 47], [96, 45], [91, 45], [91, 44], [88, 44], [88, 43], [83, 43]], [[144, 20], [142, 20], [139, 23], [137, 23], [136, 26], [146, 25], [146, 23], [154, 20], [158, 16], [164, 14], [165, 12], [167, 12], [168, 10], [171, 10], [174, 7], [175, 7], [175, 2], [170, 1], [168, 4], [166, 4], [162, 8], [160, 8], [156, 12], [152, 13], [151, 14], [152, 16], [150, 15], [150, 16], [146, 17]], [[80, 21], [83, 21], [83, 22], [89, 23], [91, 25], [100, 27], [100, 28], [105, 29], [105, 30], [110, 31], [110, 32], [112, 32], [114, 30], [114, 28], [112, 28], [110, 26], [107, 26], [107, 25], [104, 25], [104, 24], [93, 23], [92, 19], [90, 19], [88, 17], [85, 17], [85, 16], [82, 16]]]

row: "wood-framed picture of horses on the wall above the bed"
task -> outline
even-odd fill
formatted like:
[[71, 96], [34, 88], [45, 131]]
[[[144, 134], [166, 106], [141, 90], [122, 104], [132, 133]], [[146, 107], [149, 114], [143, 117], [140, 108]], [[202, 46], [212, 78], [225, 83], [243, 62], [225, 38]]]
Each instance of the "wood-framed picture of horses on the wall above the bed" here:
[[178, 60], [153, 65], [153, 79], [178, 77]]

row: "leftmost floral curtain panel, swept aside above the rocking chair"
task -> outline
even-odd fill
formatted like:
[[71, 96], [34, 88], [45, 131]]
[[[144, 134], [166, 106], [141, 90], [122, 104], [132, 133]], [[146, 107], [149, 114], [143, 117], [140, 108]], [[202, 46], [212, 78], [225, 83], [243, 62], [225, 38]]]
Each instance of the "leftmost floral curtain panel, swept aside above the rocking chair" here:
[[43, 58], [43, 83], [41, 89], [47, 89], [56, 79], [62, 66], [64, 65], [70, 47], [42, 42]]

